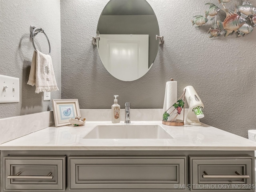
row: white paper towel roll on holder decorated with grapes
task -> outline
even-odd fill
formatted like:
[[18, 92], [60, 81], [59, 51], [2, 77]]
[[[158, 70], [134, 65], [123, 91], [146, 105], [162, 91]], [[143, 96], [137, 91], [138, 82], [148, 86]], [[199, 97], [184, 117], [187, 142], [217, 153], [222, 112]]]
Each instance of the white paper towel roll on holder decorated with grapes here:
[[[166, 82], [166, 86], [165, 86], [163, 114], [175, 102], [177, 102], [177, 82], [176, 81], [168, 81], [168, 82]], [[167, 112], [170, 114], [173, 110], [174, 110], [174, 107], [171, 107]], [[175, 117], [175, 115], [172, 114], [168, 118], [168, 120], [172, 120], [174, 117]]]

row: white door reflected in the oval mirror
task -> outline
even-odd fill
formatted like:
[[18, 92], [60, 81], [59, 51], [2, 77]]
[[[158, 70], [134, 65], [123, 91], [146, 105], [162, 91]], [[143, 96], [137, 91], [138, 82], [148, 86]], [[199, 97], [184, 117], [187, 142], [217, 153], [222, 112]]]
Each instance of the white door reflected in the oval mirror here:
[[117, 79], [136, 80], [148, 72], [148, 35], [100, 34], [97, 45], [106, 70]]

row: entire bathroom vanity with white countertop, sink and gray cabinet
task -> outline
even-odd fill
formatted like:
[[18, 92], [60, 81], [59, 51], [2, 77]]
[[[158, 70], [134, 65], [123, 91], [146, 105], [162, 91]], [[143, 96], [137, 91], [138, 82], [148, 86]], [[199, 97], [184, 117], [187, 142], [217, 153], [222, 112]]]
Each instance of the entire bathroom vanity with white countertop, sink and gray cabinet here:
[[86, 122], [0, 150], [2, 191], [254, 191], [255, 142], [206, 124]]

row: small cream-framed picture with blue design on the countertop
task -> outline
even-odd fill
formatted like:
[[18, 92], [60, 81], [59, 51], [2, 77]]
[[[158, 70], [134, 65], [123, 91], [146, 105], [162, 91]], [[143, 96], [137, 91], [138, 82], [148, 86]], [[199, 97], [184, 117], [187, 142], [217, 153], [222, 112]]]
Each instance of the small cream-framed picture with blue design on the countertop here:
[[78, 99], [53, 99], [52, 106], [56, 127], [69, 125], [69, 118], [81, 116]]

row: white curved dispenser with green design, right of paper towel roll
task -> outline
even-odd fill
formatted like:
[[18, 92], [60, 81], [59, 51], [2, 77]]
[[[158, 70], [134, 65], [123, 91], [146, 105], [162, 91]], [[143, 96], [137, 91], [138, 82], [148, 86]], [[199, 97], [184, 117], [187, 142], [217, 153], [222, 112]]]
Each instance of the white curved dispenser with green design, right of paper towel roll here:
[[186, 90], [185, 96], [188, 102], [188, 114], [185, 123], [200, 126], [202, 123], [199, 121], [199, 119], [204, 117], [204, 104], [193, 86], [186, 86], [184, 90]]

